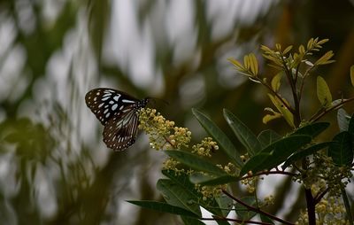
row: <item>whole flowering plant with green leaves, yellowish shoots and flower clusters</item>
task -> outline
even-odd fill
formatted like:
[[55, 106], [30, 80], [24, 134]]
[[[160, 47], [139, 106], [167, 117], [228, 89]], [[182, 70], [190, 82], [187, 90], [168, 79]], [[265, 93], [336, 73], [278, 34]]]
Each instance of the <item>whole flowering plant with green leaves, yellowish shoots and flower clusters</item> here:
[[[350, 117], [341, 106], [354, 98], [333, 101], [327, 82], [317, 76], [317, 97], [319, 110], [309, 116], [303, 112], [301, 100], [305, 81], [315, 74], [318, 66], [333, 63], [332, 51], [312, 61], [312, 54], [327, 43], [327, 39], [311, 39], [297, 51], [292, 46], [285, 49], [276, 44], [272, 50], [262, 46], [263, 57], [269, 66], [277, 71], [272, 79], [262, 77], [258, 72], [258, 60], [254, 54], [244, 57], [243, 64], [234, 58], [229, 61], [236, 70], [263, 85], [273, 107], [265, 109], [263, 122], [284, 118], [291, 130], [281, 136], [271, 129], [253, 134], [235, 114], [224, 109], [224, 118], [245, 148], [245, 153], [235, 149], [234, 144], [223, 131], [204, 113], [193, 109], [202, 127], [211, 137], [190, 147], [191, 133], [188, 128], [174, 127], [174, 122], [165, 120], [154, 109], [142, 109], [140, 128], [150, 136], [150, 144], [157, 150], [164, 150], [166, 159], [162, 173], [166, 176], [157, 184], [165, 203], [156, 201], [129, 201], [137, 206], [147, 207], [165, 213], [181, 215], [185, 224], [204, 224], [214, 220], [218, 224], [227, 221], [252, 224], [294, 224], [266, 213], [266, 206], [273, 203], [273, 197], [260, 199], [257, 196], [258, 180], [264, 175], [286, 175], [299, 182], [304, 188], [306, 212], [299, 215], [296, 224], [353, 224], [350, 200], [344, 189], [352, 177], [354, 141], [354, 117]], [[354, 67], [350, 69], [354, 84]], [[286, 80], [289, 89], [281, 89]], [[282, 96], [290, 91], [292, 99]], [[341, 108], [341, 109], [340, 109]], [[329, 127], [329, 122], [319, 121], [328, 112], [338, 111], [340, 132], [332, 140], [319, 140], [318, 136]], [[303, 113], [305, 116], [303, 116]], [[213, 162], [214, 151], [223, 151], [226, 165]], [[241, 183], [247, 187], [250, 196], [242, 198], [232, 192], [231, 185]], [[202, 218], [200, 207], [212, 213], [212, 218]], [[227, 217], [235, 211], [237, 218]], [[252, 218], [258, 214], [261, 221]]]

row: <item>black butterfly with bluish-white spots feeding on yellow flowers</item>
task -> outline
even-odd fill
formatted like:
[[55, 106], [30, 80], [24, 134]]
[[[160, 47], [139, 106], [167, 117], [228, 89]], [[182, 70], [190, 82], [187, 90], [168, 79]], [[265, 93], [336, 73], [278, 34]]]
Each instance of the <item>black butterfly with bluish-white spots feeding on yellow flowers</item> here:
[[137, 112], [149, 103], [117, 89], [91, 89], [86, 105], [104, 125], [104, 143], [114, 151], [126, 150], [135, 143], [139, 118]]

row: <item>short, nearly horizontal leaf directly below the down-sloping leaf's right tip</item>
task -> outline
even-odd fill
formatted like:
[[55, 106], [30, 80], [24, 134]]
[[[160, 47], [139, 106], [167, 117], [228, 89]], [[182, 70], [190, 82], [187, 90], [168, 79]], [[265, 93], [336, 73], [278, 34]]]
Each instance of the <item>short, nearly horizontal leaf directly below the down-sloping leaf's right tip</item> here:
[[189, 181], [200, 184], [200, 185], [208, 185], [208, 186], [214, 186], [218, 184], [224, 184], [224, 183], [229, 183], [229, 182], [235, 182], [236, 177], [232, 175], [223, 175], [223, 176], [218, 176], [218, 177], [212, 177], [210, 175], [203, 175], [201, 173], [193, 173], [192, 175], [189, 176]]

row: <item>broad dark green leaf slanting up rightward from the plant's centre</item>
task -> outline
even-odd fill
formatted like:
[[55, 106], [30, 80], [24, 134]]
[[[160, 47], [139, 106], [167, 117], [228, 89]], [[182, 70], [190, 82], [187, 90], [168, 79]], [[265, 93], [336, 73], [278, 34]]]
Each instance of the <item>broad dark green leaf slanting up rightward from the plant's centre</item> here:
[[258, 155], [250, 158], [242, 167], [240, 176], [252, 171], [257, 173], [261, 170], [270, 170], [273, 167], [280, 165], [292, 153], [310, 143], [311, 136], [288, 136], [281, 140], [268, 145]]

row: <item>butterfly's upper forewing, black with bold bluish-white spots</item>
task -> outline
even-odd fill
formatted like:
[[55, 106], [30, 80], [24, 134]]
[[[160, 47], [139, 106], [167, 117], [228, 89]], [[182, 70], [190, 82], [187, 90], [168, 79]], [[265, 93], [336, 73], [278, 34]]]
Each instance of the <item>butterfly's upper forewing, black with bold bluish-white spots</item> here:
[[112, 118], [121, 117], [124, 108], [139, 100], [116, 89], [91, 89], [86, 94], [85, 101], [96, 118], [106, 125]]

